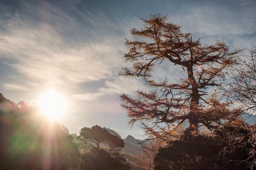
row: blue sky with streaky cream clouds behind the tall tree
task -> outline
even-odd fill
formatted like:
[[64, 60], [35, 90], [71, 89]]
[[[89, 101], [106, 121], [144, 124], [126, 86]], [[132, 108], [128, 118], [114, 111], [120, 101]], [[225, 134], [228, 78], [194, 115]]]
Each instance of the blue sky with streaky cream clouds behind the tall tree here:
[[[202, 44], [224, 40], [232, 50], [256, 44], [255, 0], [0, 0], [0, 93], [33, 106], [53, 90], [66, 101], [56, 121], [70, 133], [99, 125], [123, 139], [146, 138], [128, 126], [119, 98], [143, 82], [118, 73], [130, 29], [157, 13]], [[180, 76], [168, 63], [158, 69], [156, 79]]]

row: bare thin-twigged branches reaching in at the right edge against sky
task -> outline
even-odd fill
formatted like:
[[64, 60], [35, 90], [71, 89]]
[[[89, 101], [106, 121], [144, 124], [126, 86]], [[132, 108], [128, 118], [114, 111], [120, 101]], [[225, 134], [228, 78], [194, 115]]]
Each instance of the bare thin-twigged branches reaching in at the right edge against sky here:
[[246, 112], [256, 111], [256, 46], [246, 49], [240, 64], [231, 70], [230, 81], [226, 83], [225, 95], [243, 104]]

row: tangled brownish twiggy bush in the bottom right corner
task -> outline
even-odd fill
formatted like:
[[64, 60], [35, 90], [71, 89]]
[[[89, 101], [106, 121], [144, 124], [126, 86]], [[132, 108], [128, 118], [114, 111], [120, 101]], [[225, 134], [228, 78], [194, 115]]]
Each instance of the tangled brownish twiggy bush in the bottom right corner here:
[[256, 125], [241, 120], [227, 122], [215, 130], [222, 156], [237, 165], [239, 170], [256, 169]]

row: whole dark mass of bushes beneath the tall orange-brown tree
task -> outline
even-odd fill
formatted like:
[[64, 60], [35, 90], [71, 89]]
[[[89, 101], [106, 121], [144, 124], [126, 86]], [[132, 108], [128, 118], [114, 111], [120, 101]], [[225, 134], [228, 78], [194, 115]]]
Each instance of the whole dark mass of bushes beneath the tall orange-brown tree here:
[[159, 149], [155, 170], [254, 170], [255, 125], [237, 121], [211, 133], [185, 131]]

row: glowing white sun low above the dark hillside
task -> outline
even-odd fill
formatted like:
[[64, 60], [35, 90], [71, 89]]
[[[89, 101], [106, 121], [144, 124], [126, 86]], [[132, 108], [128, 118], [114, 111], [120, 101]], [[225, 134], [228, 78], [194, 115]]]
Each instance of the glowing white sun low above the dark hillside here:
[[49, 91], [40, 97], [40, 111], [50, 119], [57, 119], [65, 113], [67, 103], [63, 96], [55, 91]]

